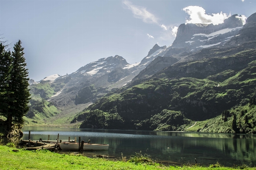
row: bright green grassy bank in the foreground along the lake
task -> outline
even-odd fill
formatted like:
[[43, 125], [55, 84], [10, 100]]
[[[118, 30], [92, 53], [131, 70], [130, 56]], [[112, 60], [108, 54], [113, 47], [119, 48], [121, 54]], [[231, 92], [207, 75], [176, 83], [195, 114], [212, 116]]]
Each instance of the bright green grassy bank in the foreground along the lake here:
[[[16, 150], [16, 152], [15, 152]], [[137, 158], [135, 158], [137, 159]], [[131, 161], [131, 160], [130, 160]], [[134, 159], [133, 159], [134, 162]], [[0, 146], [0, 170], [256, 170], [255, 167], [221, 167], [219, 164], [209, 167], [183, 166], [166, 167], [155, 163], [132, 163], [128, 161], [110, 161], [104, 158], [87, 158], [79, 155], [66, 155], [49, 151], [27, 151], [14, 147]]]

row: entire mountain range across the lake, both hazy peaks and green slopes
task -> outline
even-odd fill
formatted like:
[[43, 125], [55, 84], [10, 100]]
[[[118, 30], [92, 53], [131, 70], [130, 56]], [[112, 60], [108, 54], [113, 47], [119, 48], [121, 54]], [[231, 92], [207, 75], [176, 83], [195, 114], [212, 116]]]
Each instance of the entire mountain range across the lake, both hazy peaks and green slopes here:
[[[140, 63], [116, 55], [54, 80], [48, 76], [31, 85], [27, 122], [211, 132], [207, 122], [216, 126], [223, 121], [218, 116], [230, 110], [223, 128], [236, 118], [236, 131], [232, 125], [218, 132], [253, 133], [254, 109], [247, 104], [256, 94], [255, 22], [253, 14], [244, 26], [238, 15], [219, 25], [181, 24], [171, 46], [155, 44]], [[234, 108], [248, 108], [248, 114], [237, 115]]]

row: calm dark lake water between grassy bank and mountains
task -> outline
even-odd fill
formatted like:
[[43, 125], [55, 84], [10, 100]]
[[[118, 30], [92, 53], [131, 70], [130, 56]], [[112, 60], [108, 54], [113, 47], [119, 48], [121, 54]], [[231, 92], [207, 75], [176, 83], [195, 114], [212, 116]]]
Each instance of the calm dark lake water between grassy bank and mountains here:
[[[24, 135], [19, 138], [2, 138], [4, 142], [28, 139], [67, 140], [75, 137], [91, 143], [109, 144], [108, 151], [85, 152], [86, 156], [109, 155], [116, 158], [134, 155], [135, 152], [148, 154], [154, 160], [167, 164], [198, 163], [208, 165], [217, 161], [224, 166], [247, 164], [256, 166], [256, 135], [219, 134], [219, 133], [184, 133], [155, 132], [134, 130], [94, 130], [53, 127], [23, 127]], [[178, 164], [177, 164], [178, 165]]]

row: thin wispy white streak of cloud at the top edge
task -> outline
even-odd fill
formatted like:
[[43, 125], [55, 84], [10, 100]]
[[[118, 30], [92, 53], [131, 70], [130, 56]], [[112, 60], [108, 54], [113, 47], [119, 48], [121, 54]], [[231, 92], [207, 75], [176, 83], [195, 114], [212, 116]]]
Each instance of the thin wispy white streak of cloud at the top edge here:
[[128, 7], [128, 9], [131, 10], [131, 12], [134, 14], [134, 17], [142, 19], [143, 22], [145, 23], [158, 24], [158, 18], [155, 17], [154, 14], [148, 12], [145, 7], [135, 6], [128, 0], [124, 0], [122, 3], [125, 4]]

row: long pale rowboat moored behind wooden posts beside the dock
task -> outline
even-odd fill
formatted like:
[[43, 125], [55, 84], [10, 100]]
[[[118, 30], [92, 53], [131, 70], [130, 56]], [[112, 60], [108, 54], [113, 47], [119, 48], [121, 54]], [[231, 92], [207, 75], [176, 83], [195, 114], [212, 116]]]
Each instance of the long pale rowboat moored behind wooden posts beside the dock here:
[[[62, 150], [78, 150], [79, 143], [60, 142], [58, 143]], [[109, 144], [90, 144], [84, 143], [84, 150], [108, 150]]]

